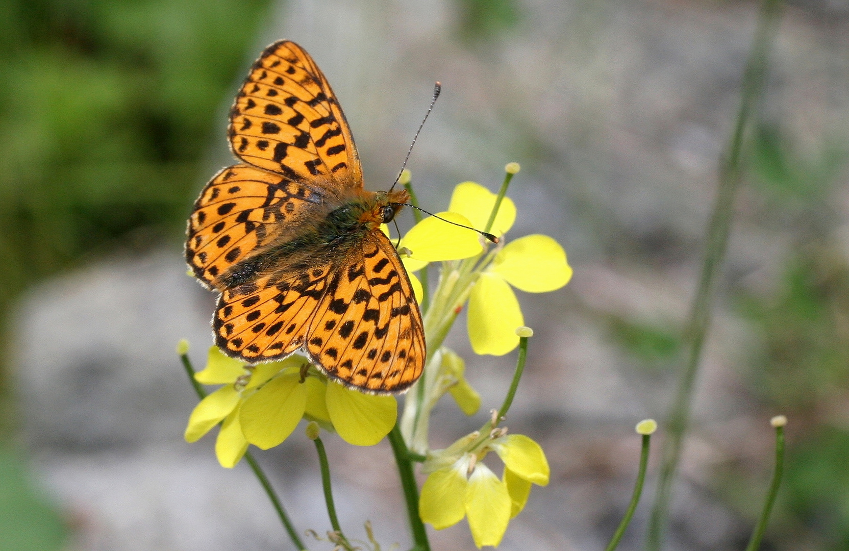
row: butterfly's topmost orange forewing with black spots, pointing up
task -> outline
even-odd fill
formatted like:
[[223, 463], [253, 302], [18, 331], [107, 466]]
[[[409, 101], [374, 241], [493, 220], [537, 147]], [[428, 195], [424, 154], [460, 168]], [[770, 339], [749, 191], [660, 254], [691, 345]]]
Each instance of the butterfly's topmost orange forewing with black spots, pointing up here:
[[233, 152], [290, 179], [362, 187], [357, 149], [333, 91], [294, 42], [275, 42], [256, 61], [230, 113]]

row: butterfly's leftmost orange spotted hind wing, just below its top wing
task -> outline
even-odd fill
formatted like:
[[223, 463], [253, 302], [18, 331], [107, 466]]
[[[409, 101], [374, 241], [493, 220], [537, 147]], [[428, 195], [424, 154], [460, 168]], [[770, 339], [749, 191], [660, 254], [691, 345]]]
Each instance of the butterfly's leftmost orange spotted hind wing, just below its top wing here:
[[321, 190], [247, 165], [229, 166], [207, 183], [188, 219], [186, 256], [194, 275], [216, 286], [229, 267], [281, 232], [320, 216]]

